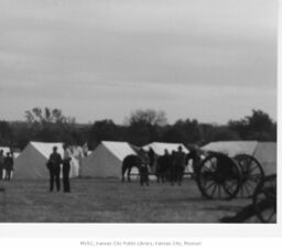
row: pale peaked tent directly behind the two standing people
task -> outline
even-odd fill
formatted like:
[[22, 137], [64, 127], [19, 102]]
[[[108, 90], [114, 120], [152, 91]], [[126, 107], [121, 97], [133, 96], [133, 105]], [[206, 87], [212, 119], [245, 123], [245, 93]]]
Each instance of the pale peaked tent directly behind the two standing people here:
[[[63, 143], [30, 142], [21, 154], [14, 160], [14, 178], [48, 178], [46, 162], [57, 147], [57, 152], [63, 155]], [[79, 162], [72, 156], [69, 176], [77, 176]]]

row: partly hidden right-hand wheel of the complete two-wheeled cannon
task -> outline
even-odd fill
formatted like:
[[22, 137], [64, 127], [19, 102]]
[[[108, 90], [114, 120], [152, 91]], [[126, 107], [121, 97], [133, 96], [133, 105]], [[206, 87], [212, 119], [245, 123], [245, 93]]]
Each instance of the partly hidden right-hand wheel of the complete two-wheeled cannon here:
[[253, 196], [258, 183], [264, 177], [264, 172], [259, 161], [252, 155], [238, 154], [235, 158], [241, 172], [240, 197]]

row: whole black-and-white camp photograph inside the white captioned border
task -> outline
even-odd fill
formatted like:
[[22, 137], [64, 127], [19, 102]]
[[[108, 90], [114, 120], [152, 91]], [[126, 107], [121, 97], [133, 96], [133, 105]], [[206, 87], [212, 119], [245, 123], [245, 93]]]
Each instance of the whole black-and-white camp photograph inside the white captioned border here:
[[0, 224], [278, 225], [278, 18], [0, 0]]

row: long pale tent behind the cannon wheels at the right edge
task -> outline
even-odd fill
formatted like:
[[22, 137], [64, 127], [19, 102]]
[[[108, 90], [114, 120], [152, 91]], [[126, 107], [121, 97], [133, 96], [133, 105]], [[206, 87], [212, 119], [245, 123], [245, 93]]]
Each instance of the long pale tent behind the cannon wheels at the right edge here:
[[258, 141], [218, 141], [203, 147], [204, 151], [215, 151], [234, 158], [237, 154], [254, 156], [267, 175], [276, 173], [276, 143]]

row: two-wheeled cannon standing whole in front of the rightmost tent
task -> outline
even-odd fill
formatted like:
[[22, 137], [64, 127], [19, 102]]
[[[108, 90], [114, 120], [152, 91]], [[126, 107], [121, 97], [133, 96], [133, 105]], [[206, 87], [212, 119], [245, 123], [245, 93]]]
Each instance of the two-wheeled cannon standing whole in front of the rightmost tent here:
[[202, 195], [208, 199], [250, 198], [264, 177], [261, 164], [252, 155], [229, 158], [220, 152], [209, 152], [195, 174]]

